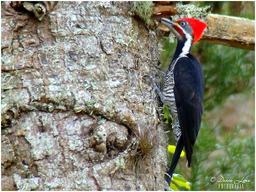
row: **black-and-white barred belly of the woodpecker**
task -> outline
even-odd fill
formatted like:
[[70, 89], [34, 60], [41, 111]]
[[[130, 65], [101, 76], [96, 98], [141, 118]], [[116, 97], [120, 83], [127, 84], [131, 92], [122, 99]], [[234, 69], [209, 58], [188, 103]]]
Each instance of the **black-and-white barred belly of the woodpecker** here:
[[176, 143], [179, 140], [181, 136], [181, 130], [179, 125], [179, 118], [178, 118], [178, 112], [177, 112], [177, 106], [175, 102], [175, 96], [174, 96], [174, 81], [173, 81], [173, 69], [176, 62], [172, 63], [170, 66], [170, 70], [168, 69], [168, 72], [165, 76], [165, 84], [164, 84], [164, 90], [163, 90], [163, 102], [167, 105], [167, 108], [169, 109], [171, 116], [173, 118], [173, 131], [175, 134], [175, 140]]

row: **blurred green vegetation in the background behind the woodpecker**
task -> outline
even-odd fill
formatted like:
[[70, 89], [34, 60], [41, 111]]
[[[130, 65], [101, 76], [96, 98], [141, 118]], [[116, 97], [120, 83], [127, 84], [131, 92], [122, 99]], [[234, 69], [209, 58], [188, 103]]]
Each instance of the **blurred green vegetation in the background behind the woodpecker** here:
[[[182, 2], [199, 7], [211, 6], [213, 14], [243, 17], [254, 20], [255, 2]], [[176, 43], [165, 41], [161, 70], [166, 72]], [[254, 190], [254, 74], [255, 52], [221, 45], [196, 43], [192, 54], [203, 66], [205, 77], [204, 114], [194, 146], [191, 169], [181, 158], [175, 173], [191, 183], [191, 190]], [[170, 144], [175, 145], [173, 132]], [[172, 155], [171, 155], [172, 157]], [[243, 188], [221, 188], [216, 180], [251, 180]], [[240, 183], [241, 184], [241, 183]], [[240, 186], [240, 185], [239, 185]], [[241, 185], [242, 187], [242, 185]], [[184, 190], [184, 188], [180, 188]]]

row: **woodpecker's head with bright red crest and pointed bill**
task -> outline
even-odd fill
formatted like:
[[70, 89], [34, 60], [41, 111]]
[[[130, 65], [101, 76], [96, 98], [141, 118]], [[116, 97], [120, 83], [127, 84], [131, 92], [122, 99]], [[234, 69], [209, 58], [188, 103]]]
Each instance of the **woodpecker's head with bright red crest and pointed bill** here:
[[161, 23], [167, 25], [179, 40], [192, 38], [192, 44], [201, 39], [207, 27], [205, 22], [194, 18], [182, 18], [176, 21], [162, 18]]

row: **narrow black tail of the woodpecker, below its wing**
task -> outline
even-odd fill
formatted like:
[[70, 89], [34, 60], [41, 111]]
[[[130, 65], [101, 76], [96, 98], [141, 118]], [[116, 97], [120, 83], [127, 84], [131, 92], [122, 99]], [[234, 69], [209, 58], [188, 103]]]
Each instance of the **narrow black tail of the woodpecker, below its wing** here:
[[180, 137], [180, 139], [178, 140], [177, 146], [175, 148], [175, 152], [174, 152], [174, 155], [173, 155], [171, 167], [168, 171], [168, 175], [170, 175], [170, 177], [168, 175], [166, 176], [166, 181], [168, 182], [169, 186], [170, 186], [170, 183], [171, 183], [171, 180], [172, 180], [173, 172], [174, 172], [174, 170], [176, 168], [176, 165], [179, 161], [180, 154], [181, 154], [181, 151], [182, 151], [183, 147], [184, 147], [184, 144], [183, 144], [183, 141], [182, 141], [182, 137]]

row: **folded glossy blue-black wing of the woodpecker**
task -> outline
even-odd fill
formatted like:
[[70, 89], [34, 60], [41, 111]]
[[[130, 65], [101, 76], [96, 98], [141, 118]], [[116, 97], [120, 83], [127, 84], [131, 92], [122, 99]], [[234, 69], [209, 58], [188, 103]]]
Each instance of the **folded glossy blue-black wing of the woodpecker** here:
[[174, 96], [179, 124], [190, 167], [193, 145], [197, 139], [203, 113], [204, 78], [200, 62], [194, 56], [181, 57], [174, 67]]

